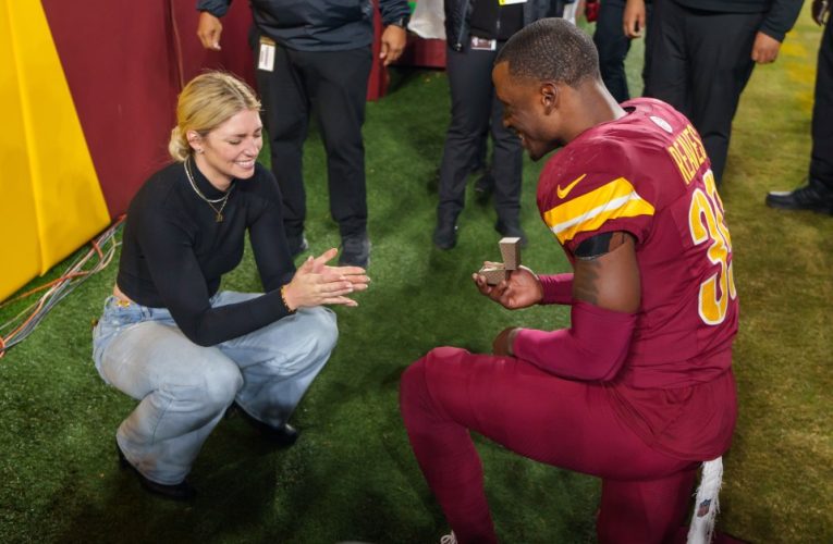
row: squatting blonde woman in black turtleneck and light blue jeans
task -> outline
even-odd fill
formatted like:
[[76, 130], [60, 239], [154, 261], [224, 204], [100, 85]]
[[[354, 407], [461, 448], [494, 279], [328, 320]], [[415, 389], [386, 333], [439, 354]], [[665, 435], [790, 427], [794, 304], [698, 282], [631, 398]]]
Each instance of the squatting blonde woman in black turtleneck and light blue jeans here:
[[[357, 267], [328, 267], [336, 250], [297, 270], [283, 233], [281, 194], [256, 162], [260, 102], [236, 77], [210, 72], [179, 97], [174, 162], [131, 202], [113, 295], [94, 331], [101, 378], [139, 400], [119, 426], [122, 467], [143, 486], [187, 499], [203, 443], [235, 405], [266, 437], [295, 442], [287, 420], [335, 346], [334, 313], [367, 288]], [[264, 293], [221, 292], [245, 233]]]

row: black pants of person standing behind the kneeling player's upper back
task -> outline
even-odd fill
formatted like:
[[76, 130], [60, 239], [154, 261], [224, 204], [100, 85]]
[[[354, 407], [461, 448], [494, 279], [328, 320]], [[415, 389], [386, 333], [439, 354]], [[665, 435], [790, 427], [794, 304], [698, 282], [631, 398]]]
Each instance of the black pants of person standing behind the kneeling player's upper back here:
[[700, 133], [720, 183], [732, 119], [752, 74], [762, 13], [689, 10], [673, 0], [653, 5], [651, 66], [646, 95], [684, 113]]

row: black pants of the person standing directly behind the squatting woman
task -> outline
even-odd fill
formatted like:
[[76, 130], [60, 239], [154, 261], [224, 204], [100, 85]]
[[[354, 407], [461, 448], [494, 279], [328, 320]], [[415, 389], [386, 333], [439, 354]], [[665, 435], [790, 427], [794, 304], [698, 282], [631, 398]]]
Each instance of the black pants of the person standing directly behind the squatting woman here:
[[[256, 47], [256, 67], [258, 55]], [[303, 158], [311, 112], [327, 151], [330, 213], [342, 236], [367, 230], [362, 125], [371, 58], [369, 47], [310, 52], [278, 46], [274, 70], [256, 70], [287, 238], [298, 238], [304, 231]]]

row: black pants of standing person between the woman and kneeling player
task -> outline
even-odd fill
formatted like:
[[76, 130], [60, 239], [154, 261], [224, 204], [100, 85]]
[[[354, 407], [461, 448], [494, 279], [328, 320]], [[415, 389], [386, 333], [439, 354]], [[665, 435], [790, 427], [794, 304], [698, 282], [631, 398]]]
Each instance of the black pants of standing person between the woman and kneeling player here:
[[455, 221], [465, 206], [466, 178], [477, 162], [482, 134], [490, 131], [493, 151], [494, 209], [504, 224], [520, 217], [523, 149], [503, 126], [503, 104], [494, 95], [492, 64], [498, 51], [448, 49], [445, 71], [451, 87], [451, 124], [440, 165], [438, 218]]

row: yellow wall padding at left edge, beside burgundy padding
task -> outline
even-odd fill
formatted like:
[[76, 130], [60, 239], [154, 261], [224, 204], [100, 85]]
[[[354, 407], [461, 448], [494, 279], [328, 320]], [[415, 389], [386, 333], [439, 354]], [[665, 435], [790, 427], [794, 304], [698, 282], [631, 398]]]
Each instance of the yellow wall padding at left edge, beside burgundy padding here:
[[[3, 153], [13, 153], [2, 164], [4, 170], [13, 164], [14, 172], [5, 171], [3, 177], [16, 178], [3, 181], [0, 200], [13, 210], [0, 215], [0, 227], [7, 239], [26, 238], [34, 211], [40, 254], [37, 271], [42, 274], [107, 226], [110, 217], [40, 1], [0, 0], [0, 32], [9, 30], [0, 37], [0, 57], [12, 57], [0, 64], [11, 69], [2, 71], [0, 97], [5, 100], [0, 103], [20, 104], [21, 119], [16, 120], [16, 113], [12, 119], [22, 128], [0, 136]], [[5, 141], [10, 138], [17, 141]], [[7, 193], [5, 184], [15, 187]], [[35, 247], [28, 244], [20, 252], [3, 251], [0, 299], [25, 283], [10, 277], [30, 269], [23, 262]], [[13, 273], [7, 272], [7, 264]]]

